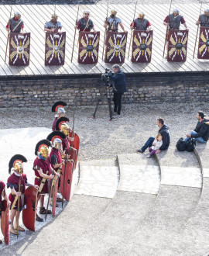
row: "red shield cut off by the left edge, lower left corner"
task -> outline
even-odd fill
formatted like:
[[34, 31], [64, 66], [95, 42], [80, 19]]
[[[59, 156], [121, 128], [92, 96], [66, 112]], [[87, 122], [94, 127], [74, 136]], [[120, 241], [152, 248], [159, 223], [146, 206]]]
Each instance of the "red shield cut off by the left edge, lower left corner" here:
[[9, 244], [9, 207], [6, 200], [2, 201], [1, 230], [4, 235], [5, 244]]

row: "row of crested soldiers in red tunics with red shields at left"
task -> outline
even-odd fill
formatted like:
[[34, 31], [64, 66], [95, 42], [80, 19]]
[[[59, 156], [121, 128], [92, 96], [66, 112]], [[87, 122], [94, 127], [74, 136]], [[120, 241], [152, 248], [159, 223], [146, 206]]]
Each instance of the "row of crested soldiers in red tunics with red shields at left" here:
[[[72, 174], [76, 168], [79, 138], [74, 133], [74, 129], [72, 130], [67, 124], [70, 120], [65, 116], [65, 106], [67, 106], [65, 102], [56, 102], [53, 105], [52, 110], [56, 112], [53, 132], [36, 144], [36, 159], [33, 163], [34, 181], [31, 181], [34, 185], [28, 182], [26, 174], [23, 173], [23, 163], [27, 159], [21, 154], [15, 154], [9, 161], [9, 178], [6, 182], [7, 188], [10, 189], [9, 196], [5, 192], [5, 183], [0, 181], [0, 216], [5, 244], [9, 243], [9, 232], [19, 235], [19, 231], [25, 231], [19, 226], [21, 211], [25, 227], [35, 231], [36, 221], [43, 221], [43, 218], [36, 213], [38, 202], [40, 215], [54, 216], [57, 202], [70, 199], [70, 189], [67, 186], [71, 184]], [[51, 151], [50, 147], [52, 147]], [[28, 192], [26, 186], [30, 188]], [[57, 190], [58, 192], [60, 190], [62, 198], [57, 196]], [[44, 206], [46, 194], [49, 194], [47, 207]], [[48, 209], [49, 204], [52, 210]]]

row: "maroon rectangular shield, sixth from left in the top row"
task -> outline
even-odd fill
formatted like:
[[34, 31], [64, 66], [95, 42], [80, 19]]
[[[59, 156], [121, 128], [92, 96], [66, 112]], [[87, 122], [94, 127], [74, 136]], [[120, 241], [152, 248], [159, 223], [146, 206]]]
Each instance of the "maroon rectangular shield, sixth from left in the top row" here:
[[187, 30], [170, 30], [168, 36], [167, 61], [183, 62], [187, 60]]

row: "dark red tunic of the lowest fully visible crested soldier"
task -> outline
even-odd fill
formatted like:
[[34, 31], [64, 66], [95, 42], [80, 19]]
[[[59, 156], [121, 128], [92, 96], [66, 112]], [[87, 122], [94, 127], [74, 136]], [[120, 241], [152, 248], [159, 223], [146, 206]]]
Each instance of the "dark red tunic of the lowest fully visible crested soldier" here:
[[[15, 175], [15, 172], [12, 173], [12, 175], [9, 176], [7, 180], [7, 187], [10, 189], [15, 189], [15, 192], [19, 192], [19, 179], [21, 180], [20, 182], [20, 192], [24, 194], [26, 190], [26, 183], [27, 183], [27, 177], [24, 173], [22, 173], [21, 176]], [[12, 195], [12, 193], [9, 194], [9, 201], [12, 203], [15, 200], [16, 195]], [[24, 196], [24, 205], [26, 205], [26, 197]], [[18, 207], [18, 200], [15, 203], [15, 207]], [[19, 200], [19, 207], [22, 209], [22, 199], [20, 198]]]

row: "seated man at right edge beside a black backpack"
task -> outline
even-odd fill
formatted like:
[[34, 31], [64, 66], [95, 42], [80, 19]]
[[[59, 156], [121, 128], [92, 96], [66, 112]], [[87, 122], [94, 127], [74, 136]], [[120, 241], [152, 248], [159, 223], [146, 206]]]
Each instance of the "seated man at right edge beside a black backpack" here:
[[207, 140], [209, 138], [209, 120], [205, 119], [203, 111], [197, 112], [197, 126], [194, 130], [190, 130], [189, 133], [187, 133], [187, 138], [184, 141], [189, 140], [190, 137], [195, 138], [197, 142], [200, 143], [207, 143]]

